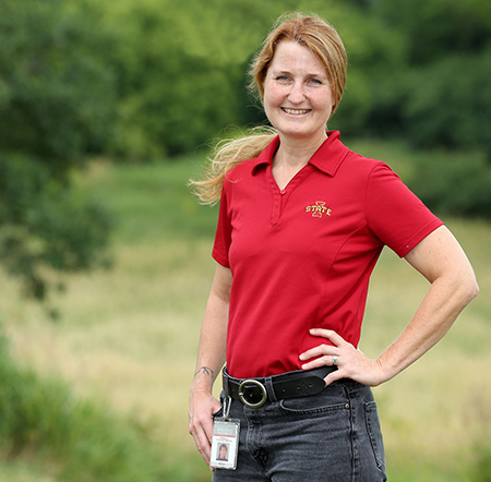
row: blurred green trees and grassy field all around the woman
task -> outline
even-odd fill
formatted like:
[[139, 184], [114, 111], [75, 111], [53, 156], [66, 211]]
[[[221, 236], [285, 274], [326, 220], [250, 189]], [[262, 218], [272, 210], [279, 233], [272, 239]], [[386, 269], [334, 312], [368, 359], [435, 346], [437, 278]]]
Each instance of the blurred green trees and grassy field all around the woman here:
[[[375, 389], [390, 480], [491, 481], [489, 0], [0, 0], [0, 480], [211, 480], [187, 410], [217, 210], [187, 183], [265, 123], [248, 65], [290, 11], [345, 41], [330, 129], [399, 173], [481, 287]], [[384, 251], [369, 357], [427, 289]]]

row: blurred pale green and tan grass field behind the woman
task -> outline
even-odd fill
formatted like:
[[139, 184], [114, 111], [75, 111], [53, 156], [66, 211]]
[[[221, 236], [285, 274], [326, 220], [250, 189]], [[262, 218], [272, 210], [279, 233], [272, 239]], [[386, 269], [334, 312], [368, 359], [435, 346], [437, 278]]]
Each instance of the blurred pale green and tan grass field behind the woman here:
[[[386, 146], [363, 147], [386, 157]], [[199, 159], [194, 154], [170, 164], [95, 161], [77, 177], [81, 192], [113, 212], [115, 266], [67, 276], [68, 291], [53, 300], [59, 322], [23, 300], [16, 282], [1, 275], [1, 322], [17, 362], [60, 376], [79, 396], [137, 420], [163, 447], [172, 482], [211, 479], [187, 430], [217, 216], [185, 186]], [[410, 169], [404, 156], [394, 166]], [[374, 390], [393, 482], [491, 480], [478, 469], [491, 459], [490, 225], [444, 220], [474, 264], [481, 293], [432, 351]], [[360, 344], [369, 357], [405, 327], [427, 288], [405, 261], [384, 251]], [[22, 461], [0, 467], [0, 480], [51, 482]]]

